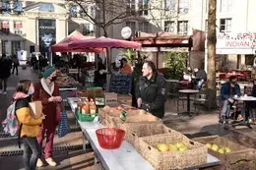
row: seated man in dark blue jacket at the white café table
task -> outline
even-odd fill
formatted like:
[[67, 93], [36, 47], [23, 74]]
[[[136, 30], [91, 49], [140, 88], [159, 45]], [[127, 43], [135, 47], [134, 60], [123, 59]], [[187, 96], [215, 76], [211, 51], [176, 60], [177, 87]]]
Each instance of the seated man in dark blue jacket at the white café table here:
[[229, 108], [234, 103], [234, 100], [232, 99], [234, 95], [237, 95], [237, 96], [241, 95], [240, 86], [237, 85], [236, 77], [230, 76], [229, 82], [225, 83], [221, 89], [221, 97], [222, 97], [222, 100], [224, 101], [223, 109], [221, 113], [222, 114], [221, 120], [220, 120], [221, 123], [224, 122], [225, 118], [226, 119], [229, 118]]

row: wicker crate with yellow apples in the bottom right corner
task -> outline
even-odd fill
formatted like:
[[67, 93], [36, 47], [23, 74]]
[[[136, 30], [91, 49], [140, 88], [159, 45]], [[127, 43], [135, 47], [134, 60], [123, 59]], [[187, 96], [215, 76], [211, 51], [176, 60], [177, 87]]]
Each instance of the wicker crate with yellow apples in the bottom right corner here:
[[193, 139], [196, 142], [215, 143], [218, 146], [229, 147], [231, 149], [228, 153], [219, 153], [212, 149], [208, 149], [208, 152], [222, 161], [222, 165], [217, 166], [216, 169], [239, 169], [239, 167], [244, 167], [244, 169], [255, 169], [256, 164], [256, 151], [253, 148], [248, 148], [235, 142], [231, 142], [223, 137], [219, 136], [209, 136], [202, 138]]

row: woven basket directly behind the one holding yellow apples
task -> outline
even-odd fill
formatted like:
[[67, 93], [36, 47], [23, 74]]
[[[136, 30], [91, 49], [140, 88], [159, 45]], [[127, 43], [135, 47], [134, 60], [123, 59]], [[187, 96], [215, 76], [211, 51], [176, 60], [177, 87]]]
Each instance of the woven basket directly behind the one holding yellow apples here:
[[139, 149], [139, 138], [169, 134], [172, 131], [160, 122], [127, 123], [120, 128], [126, 131], [125, 140], [133, 144], [137, 150]]

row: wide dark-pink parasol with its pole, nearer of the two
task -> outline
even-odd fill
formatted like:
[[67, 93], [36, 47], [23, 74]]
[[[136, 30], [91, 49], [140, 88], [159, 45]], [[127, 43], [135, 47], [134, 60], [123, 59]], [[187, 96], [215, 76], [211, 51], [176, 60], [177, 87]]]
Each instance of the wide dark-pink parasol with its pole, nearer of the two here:
[[[87, 49], [87, 48], [136, 48], [139, 49], [142, 47], [141, 43], [128, 41], [128, 40], [121, 40], [121, 39], [114, 39], [109, 37], [97, 37], [92, 39], [83, 39], [78, 41], [73, 41], [69, 43], [69, 47], [73, 49]], [[108, 61], [108, 53], [106, 53], [106, 61]], [[109, 68], [108, 62], [106, 62], [106, 69], [107, 74], [109, 76]], [[108, 90], [109, 86], [109, 77], [106, 79], [106, 89]]]

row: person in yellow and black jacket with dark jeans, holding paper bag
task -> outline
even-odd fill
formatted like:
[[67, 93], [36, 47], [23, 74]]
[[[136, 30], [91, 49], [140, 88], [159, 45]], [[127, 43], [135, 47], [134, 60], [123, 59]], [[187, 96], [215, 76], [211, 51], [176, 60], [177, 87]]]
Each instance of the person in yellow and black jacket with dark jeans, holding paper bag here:
[[40, 156], [40, 147], [36, 137], [39, 134], [39, 125], [44, 119], [44, 116], [38, 119], [33, 119], [31, 116], [29, 103], [32, 101], [33, 91], [32, 82], [23, 80], [17, 85], [14, 94], [16, 116], [20, 124], [19, 137], [23, 138], [24, 142], [23, 160], [26, 170], [34, 170]]

